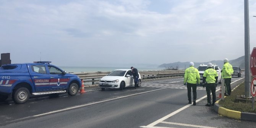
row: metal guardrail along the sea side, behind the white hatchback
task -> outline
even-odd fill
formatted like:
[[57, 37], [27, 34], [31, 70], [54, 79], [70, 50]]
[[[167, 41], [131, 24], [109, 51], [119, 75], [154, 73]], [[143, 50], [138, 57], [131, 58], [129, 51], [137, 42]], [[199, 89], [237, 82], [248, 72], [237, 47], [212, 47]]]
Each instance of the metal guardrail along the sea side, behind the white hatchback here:
[[[99, 81], [100, 78], [108, 75], [110, 71], [98, 71], [89, 73], [72, 73], [78, 75], [80, 79], [83, 79], [85, 83]], [[139, 71], [141, 79], [155, 79], [155, 78], [167, 78], [173, 76], [184, 76], [185, 70], [167, 70], [167, 71]]]

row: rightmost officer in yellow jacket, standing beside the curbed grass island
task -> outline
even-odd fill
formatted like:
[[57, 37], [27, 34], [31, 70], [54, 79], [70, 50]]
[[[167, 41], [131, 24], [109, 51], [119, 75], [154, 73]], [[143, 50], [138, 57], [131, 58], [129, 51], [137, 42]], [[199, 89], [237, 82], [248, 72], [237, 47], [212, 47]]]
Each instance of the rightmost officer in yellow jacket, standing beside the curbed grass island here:
[[223, 60], [224, 65], [221, 72], [221, 77], [224, 79], [224, 86], [225, 86], [225, 96], [231, 95], [231, 78], [234, 72], [232, 65], [228, 63], [228, 59], [225, 58]]

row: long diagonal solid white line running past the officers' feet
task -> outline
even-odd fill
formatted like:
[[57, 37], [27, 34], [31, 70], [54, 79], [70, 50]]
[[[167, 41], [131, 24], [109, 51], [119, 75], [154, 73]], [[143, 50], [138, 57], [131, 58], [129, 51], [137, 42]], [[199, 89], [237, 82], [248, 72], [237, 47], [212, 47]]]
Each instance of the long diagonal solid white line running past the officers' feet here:
[[[241, 78], [241, 79], [243, 79], [243, 78]], [[239, 80], [240, 80], [240, 79], [238, 79], [238, 80], [232, 82], [231, 84], [233, 84], [233, 83], [235, 83], [235, 82], [237, 82], [237, 81], [239, 81]], [[217, 89], [216, 92], [219, 91], [219, 90], [220, 90], [220, 89]], [[201, 98], [198, 99], [198, 100], [196, 100], [196, 102], [199, 102], [199, 101], [201, 101], [202, 99], [204, 99], [204, 98], [206, 98], [206, 97], [207, 97], [207, 95], [201, 97]], [[184, 107], [182, 107], [182, 108], [180, 108], [180, 109], [178, 109], [178, 110], [176, 110], [176, 111], [170, 113], [169, 115], [166, 115], [165, 117], [162, 117], [162, 118], [156, 120], [155, 122], [153, 122], [153, 123], [151, 123], [151, 124], [149, 124], [149, 125], [147, 125], [147, 126], [141, 126], [141, 128], [157, 128], [157, 127], [155, 127], [155, 125], [157, 125], [158, 123], [164, 122], [164, 120], [166, 120], [167, 118], [170, 118], [170, 117], [172, 117], [173, 115], [175, 115], [175, 114], [181, 112], [182, 110], [185, 110], [186, 108], [190, 107], [191, 105], [192, 105], [192, 104], [188, 104], [188, 105], [186, 105], [186, 106], [184, 106]], [[168, 127], [166, 127], [166, 128], [168, 128]], [[204, 128], [207, 128], [207, 127], [204, 127]]]

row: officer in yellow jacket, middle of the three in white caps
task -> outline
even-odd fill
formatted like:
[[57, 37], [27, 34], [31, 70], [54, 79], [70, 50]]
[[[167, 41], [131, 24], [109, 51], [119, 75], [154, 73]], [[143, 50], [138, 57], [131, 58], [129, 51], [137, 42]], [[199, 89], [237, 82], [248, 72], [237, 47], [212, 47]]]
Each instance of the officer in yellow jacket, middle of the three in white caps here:
[[[216, 102], [216, 86], [218, 81], [217, 71], [212, 69], [212, 63], [207, 64], [207, 70], [203, 75], [203, 87], [206, 87], [207, 104], [206, 106], [213, 106]], [[212, 104], [211, 104], [211, 92], [212, 92]]]

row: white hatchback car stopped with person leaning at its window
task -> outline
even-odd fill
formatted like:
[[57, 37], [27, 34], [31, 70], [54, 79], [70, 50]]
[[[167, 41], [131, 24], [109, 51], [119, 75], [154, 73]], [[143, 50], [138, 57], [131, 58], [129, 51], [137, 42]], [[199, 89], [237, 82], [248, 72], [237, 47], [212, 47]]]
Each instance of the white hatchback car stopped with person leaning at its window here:
[[[119, 88], [125, 89], [127, 86], [134, 86], [134, 79], [130, 69], [118, 69], [109, 73], [99, 80], [99, 87], [102, 91], [105, 88]], [[141, 86], [141, 75], [139, 75], [139, 83], [137, 87]]]

